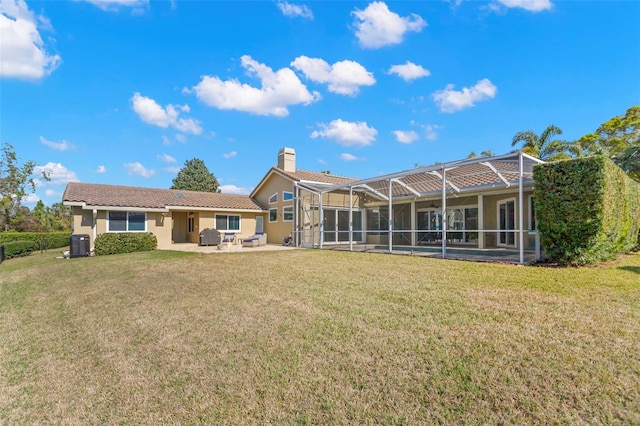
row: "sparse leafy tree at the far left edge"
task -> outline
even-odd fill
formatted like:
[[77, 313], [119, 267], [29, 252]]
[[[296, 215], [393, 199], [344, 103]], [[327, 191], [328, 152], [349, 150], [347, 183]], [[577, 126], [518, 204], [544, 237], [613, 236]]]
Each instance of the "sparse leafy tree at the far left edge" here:
[[[11, 144], [2, 145], [0, 158], [0, 229], [9, 230], [20, 221], [23, 214], [22, 199], [30, 192], [36, 191], [36, 177], [33, 172], [36, 163], [27, 161], [18, 165], [18, 157]], [[41, 177], [49, 180], [49, 173], [44, 171]], [[27, 209], [28, 210], [28, 209]]]

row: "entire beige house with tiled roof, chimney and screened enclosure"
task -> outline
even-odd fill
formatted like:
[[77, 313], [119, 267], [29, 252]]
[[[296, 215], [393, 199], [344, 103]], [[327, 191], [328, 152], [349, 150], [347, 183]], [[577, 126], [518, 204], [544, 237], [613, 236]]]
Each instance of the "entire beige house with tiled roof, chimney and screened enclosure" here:
[[536, 248], [533, 166], [540, 160], [510, 153], [354, 179], [296, 168], [295, 150], [250, 195], [198, 193], [70, 183], [63, 203], [73, 207], [74, 232], [149, 231], [159, 246], [197, 243], [216, 228], [238, 238], [255, 231], [279, 244], [372, 245], [476, 249]]

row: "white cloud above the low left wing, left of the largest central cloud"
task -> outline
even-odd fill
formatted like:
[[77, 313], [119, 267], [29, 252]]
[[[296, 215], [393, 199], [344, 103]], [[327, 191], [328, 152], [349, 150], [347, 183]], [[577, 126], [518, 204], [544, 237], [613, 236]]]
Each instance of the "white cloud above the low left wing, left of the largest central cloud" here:
[[145, 123], [162, 128], [170, 126], [181, 132], [192, 133], [194, 135], [202, 133], [202, 127], [198, 120], [180, 117], [178, 109], [184, 111], [184, 106], [178, 105], [176, 108], [175, 105], [169, 104], [165, 108], [162, 108], [156, 101], [142, 96], [138, 92], [133, 94], [131, 103], [133, 110]]

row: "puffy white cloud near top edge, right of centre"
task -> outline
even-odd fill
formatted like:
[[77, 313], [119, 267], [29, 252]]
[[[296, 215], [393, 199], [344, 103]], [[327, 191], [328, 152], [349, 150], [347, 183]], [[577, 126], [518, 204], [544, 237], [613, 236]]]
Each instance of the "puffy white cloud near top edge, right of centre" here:
[[384, 2], [373, 2], [365, 10], [351, 12], [356, 19], [356, 37], [360, 46], [377, 49], [383, 46], [400, 44], [408, 31], [420, 32], [427, 25], [419, 15], [401, 17], [391, 12]]

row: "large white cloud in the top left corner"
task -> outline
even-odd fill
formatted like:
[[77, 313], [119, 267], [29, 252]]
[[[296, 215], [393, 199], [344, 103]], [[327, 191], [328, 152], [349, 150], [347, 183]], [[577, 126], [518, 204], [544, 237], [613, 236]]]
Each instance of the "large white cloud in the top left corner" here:
[[37, 22], [52, 29], [49, 20], [35, 17], [24, 0], [0, 1], [0, 77], [37, 80], [60, 65], [60, 55], [47, 52]]

